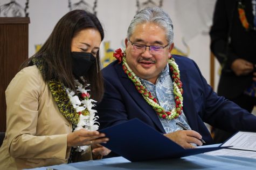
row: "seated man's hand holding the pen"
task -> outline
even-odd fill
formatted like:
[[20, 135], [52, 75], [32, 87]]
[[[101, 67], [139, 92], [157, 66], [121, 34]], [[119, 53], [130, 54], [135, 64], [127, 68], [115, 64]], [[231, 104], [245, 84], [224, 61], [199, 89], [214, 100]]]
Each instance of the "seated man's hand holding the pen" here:
[[171, 141], [181, 145], [184, 149], [191, 149], [196, 147], [191, 145], [191, 143], [195, 143], [198, 146], [203, 145], [203, 143], [199, 140], [202, 139], [202, 136], [193, 130], [178, 130], [170, 134], [164, 134], [164, 136], [171, 139]]

